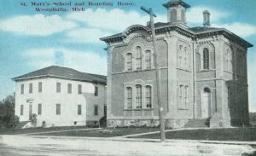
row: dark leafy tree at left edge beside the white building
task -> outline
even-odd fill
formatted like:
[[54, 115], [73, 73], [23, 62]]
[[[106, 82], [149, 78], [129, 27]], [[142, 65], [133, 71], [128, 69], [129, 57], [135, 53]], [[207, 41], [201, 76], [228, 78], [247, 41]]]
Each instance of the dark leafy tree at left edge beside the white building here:
[[15, 116], [15, 93], [0, 101], [0, 129], [15, 128], [19, 124], [19, 117]]

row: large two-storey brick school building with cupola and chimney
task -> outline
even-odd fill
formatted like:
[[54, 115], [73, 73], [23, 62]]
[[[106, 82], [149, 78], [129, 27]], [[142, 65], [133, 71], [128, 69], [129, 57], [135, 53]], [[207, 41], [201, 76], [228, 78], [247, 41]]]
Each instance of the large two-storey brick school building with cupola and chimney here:
[[[197, 120], [211, 127], [248, 123], [247, 48], [225, 28], [186, 25], [189, 4], [163, 4], [167, 22], [155, 23], [160, 91], [167, 127]], [[150, 26], [129, 26], [101, 38], [108, 43], [108, 126], [159, 124]]]

